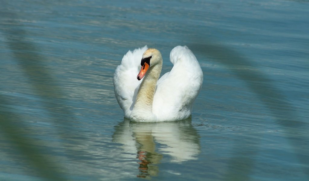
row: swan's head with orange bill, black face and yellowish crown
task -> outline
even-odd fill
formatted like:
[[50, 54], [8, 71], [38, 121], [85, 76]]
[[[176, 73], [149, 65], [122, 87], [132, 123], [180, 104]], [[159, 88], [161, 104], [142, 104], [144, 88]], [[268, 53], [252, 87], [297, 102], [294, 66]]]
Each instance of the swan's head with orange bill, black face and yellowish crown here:
[[141, 80], [145, 76], [149, 67], [155, 66], [159, 63], [162, 64], [162, 55], [159, 50], [155, 48], [148, 48], [143, 54], [141, 61], [142, 68], [137, 75], [137, 79]]

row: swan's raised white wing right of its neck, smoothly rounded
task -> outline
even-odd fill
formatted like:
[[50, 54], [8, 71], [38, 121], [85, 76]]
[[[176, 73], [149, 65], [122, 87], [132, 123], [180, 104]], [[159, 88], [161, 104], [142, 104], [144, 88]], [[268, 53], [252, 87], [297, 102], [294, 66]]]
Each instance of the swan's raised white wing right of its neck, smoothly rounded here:
[[159, 120], [181, 120], [191, 114], [193, 101], [203, 84], [203, 72], [187, 46], [177, 46], [170, 54], [174, 64], [158, 81], [153, 112]]

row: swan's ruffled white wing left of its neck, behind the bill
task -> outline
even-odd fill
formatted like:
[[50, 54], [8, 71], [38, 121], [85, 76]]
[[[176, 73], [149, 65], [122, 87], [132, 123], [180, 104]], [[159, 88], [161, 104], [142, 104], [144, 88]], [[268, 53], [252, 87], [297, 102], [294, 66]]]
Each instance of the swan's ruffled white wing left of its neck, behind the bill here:
[[114, 92], [126, 118], [129, 118], [139, 85], [142, 82], [138, 81], [136, 77], [141, 69], [142, 56], [146, 50], [147, 46], [135, 49], [133, 52], [129, 51], [123, 56], [121, 64], [115, 70]]

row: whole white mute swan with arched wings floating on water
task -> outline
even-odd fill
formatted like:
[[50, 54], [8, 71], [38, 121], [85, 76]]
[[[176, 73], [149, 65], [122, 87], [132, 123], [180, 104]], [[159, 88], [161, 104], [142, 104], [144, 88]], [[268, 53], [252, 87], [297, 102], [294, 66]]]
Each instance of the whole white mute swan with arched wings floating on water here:
[[163, 63], [159, 50], [145, 46], [124, 55], [113, 84], [125, 118], [161, 122], [184, 120], [191, 115], [203, 83], [202, 69], [187, 46], [173, 48], [170, 61], [173, 68], [159, 79]]

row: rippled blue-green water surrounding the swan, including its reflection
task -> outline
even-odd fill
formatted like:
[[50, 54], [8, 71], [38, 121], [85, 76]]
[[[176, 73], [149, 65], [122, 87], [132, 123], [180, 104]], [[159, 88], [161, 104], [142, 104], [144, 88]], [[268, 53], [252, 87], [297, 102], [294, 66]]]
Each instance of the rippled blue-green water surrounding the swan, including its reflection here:
[[[0, 180], [308, 180], [308, 1], [2, 1]], [[124, 120], [144, 45], [204, 73], [188, 120]]]

